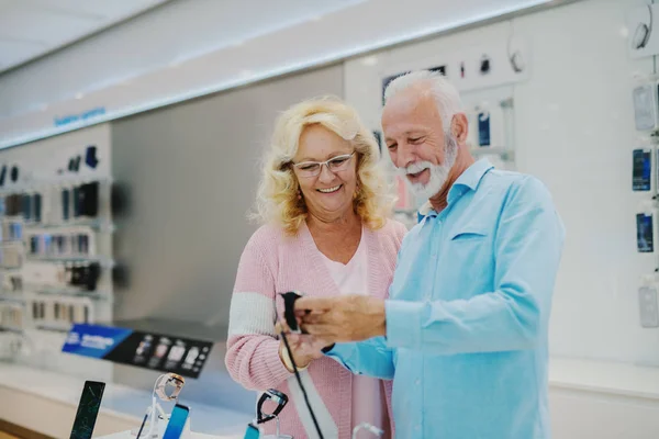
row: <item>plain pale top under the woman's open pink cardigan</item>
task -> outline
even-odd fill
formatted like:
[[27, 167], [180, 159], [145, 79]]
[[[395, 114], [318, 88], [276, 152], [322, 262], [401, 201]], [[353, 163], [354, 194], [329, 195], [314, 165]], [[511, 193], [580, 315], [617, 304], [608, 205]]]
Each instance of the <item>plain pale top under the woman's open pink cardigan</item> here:
[[[364, 236], [364, 234], [362, 234]], [[368, 294], [368, 258], [364, 239], [347, 264], [333, 261], [321, 251], [321, 256], [330, 270], [340, 294]], [[387, 415], [387, 398], [378, 379], [365, 375], [353, 376], [353, 423], [355, 428], [361, 423], [389, 431], [389, 417]], [[359, 437], [371, 435], [365, 430]], [[372, 435], [370, 436], [372, 437]]]

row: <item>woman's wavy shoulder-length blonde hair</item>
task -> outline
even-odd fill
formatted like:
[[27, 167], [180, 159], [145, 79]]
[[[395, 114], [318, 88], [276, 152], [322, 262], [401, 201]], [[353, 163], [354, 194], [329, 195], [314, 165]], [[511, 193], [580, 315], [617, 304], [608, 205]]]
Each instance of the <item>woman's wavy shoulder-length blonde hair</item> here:
[[256, 212], [260, 223], [277, 223], [291, 235], [306, 219], [304, 200], [298, 198], [300, 184], [291, 168], [300, 136], [309, 125], [320, 124], [350, 142], [357, 151], [357, 190], [354, 209], [370, 229], [384, 226], [393, 203], [376, 138], [351, 106], [335, 97], [322, 97], [294, 104], [277, 120], [270, 147], [264, 158], [257, 191]]

